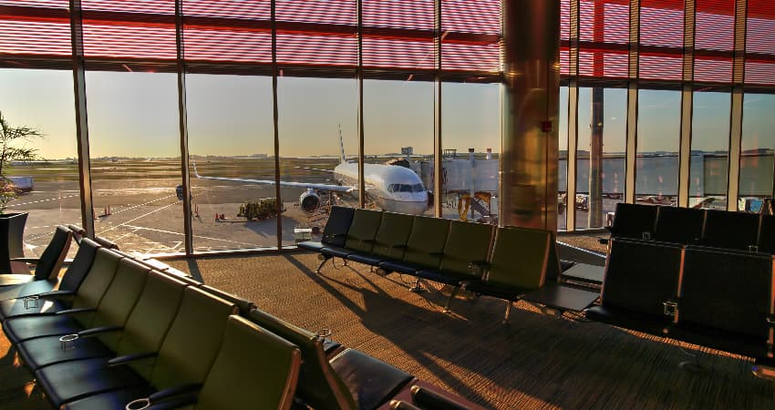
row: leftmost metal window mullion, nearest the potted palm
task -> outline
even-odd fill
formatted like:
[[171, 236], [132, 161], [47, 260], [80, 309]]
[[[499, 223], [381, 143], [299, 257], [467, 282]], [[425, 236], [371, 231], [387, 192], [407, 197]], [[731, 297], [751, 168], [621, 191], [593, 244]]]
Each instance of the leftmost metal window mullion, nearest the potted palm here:
[[81, 222], [89, 238], [94, 238], [94, 201], [91, 191], [91, 158], [88, 150], [88, 109], [86, 64], [84, 62], [83, 19], [80, 0], [70, 0], [70, 44], [73, 63], [73, 97], [76, 106], [78, 145], [78, 190], [81, 196]]

